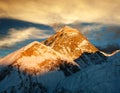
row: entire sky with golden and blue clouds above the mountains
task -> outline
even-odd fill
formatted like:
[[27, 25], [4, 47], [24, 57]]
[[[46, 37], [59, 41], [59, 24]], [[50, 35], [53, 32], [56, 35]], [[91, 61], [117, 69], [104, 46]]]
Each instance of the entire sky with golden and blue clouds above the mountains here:
[[120, 44], [119, 9], [120, 0], [0, 0], [0, 56], [45, 40], [63, 25], [96, 46]]

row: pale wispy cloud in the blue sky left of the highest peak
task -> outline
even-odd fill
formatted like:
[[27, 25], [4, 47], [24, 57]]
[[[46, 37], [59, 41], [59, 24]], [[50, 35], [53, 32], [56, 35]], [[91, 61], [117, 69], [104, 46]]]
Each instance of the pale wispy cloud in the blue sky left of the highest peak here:
[[40, 30], [34, 27], [26, 29], [9, 29], [8, 35], [0, 39], [0, 47], [12, 46], [17, 42], [25, 41], [27, 39], [44, 39], [50, 35], [47, 34], [49, 31]]

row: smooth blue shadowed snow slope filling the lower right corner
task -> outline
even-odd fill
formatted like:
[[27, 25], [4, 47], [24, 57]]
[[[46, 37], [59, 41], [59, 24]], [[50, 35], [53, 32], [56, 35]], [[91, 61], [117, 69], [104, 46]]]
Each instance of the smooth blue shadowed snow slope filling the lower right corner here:
[[63, 79], [55, 93], [120, 93], [120, 52]]

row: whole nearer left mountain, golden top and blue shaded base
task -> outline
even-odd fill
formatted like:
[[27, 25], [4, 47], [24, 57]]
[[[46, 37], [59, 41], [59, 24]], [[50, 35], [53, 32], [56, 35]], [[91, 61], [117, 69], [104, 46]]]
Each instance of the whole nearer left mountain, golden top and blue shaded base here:
[[0, 60], [0, 93], [53, 93], [77, 71], [75, 62], [35, 41]]

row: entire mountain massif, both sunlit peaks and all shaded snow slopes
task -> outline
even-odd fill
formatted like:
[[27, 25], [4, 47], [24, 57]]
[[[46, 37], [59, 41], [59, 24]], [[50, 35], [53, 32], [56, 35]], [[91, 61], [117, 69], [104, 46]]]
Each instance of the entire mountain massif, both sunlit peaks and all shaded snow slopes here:
[[120, 93], [120, 53], [103, 54], [64, 27], [0, 59], [0, 93]]

